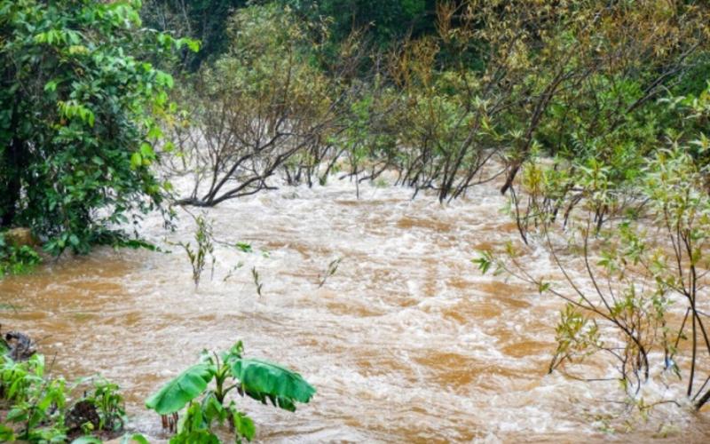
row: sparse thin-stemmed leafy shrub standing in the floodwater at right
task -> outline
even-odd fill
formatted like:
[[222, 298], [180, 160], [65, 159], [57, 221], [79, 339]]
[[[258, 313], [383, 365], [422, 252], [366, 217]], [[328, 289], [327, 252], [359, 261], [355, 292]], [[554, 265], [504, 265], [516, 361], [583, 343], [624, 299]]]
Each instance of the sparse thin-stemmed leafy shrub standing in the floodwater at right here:
[[[628, 400], [643, 403], [637, 395], [651, 377], [664, 385], [682, 384], [684, 378], [687, 399], [698, 410], [710, 400], [707, 173], [686, 147], [674, 145], [660, 150], [644, 170], [638, 186], [646, 202], [641, 215], [598, 229], [595, 200], [604, 195], [597, 193], [580, 202], [587, 213], [571, 217], [572, 235], [566, 239], [552, 218], [540, 219], [536, 234], [561, 276], [557, 279], [533, 271], [512, 246], [501, 257], [486, 251], [474, 260], [484, 273], [494, 266], [566, 302], [550, 371], [599, 380], [567, 369], [604, 354], [616, 363], [612, 379], [625, 388]], [[678, 305], [682, 309], [673, 311]], [[654, 375], [657, 357], [662, 371]]]

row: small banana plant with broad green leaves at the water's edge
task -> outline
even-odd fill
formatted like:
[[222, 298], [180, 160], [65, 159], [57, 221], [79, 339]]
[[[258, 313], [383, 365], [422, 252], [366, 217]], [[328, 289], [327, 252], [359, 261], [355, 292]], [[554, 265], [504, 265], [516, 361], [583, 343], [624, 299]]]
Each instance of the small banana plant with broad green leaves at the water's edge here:
[[220, 355], [204, 351], [198, 363], [146, 400], [146, 408], [163, 417], [163, 426], [170, 424], [168, 416], [174, 417], [185, 408], [170, 444], [218, 443], [212, 426], [225, 423], [235, 433], [236, 442], [252, 440], [254, 422], [233, 399], [227, 401], [230, 392], [264, 404], [270, 401], [274, 407], [288, 411], [296, 411], [296, 402], [307, 403], [315, 394], [315, 388], [298, 373], [269, 361], [243, 358], [243, 352], [241, 341]]

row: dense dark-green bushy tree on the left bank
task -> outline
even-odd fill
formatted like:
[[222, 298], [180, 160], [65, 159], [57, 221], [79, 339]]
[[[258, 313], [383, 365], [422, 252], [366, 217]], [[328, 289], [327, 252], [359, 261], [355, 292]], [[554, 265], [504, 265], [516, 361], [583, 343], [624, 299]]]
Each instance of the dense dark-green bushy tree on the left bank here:
[[140, 5], [0, 1], [0, 225], [53, 253], [115, 241], [162, 200], [149, 167], [173, 80], [134, 54], [194, 44], [142, 29]]

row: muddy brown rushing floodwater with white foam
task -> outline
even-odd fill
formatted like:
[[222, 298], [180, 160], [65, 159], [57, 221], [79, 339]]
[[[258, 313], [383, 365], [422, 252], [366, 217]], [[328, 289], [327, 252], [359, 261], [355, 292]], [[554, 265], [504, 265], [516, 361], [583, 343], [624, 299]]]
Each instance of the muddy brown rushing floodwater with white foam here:
[[[194, 289], [174, 242], [192, 239], [146, 219], [171, 254], [97, 250], [0, 281], [7, 329], [38, 339], [52, 371], [100, 372], [122, 386], [132, 429], [164, 439], [146, 396], [204, 348], [242, 339], [249, 356], [280, 361], [318, 388], [295, 414], [241, 406], [263, 441], [649, 440], [657, 430], [600, 432], [613, 387], [546, 375], [560, 303], [504, 276], [481, 276], [478, 249], [516, 238], [494, 186], [442, 207], [398, 187], [347, 181], [283, 188], [209, 210], [218, 240], [213, 278]], [[194, 212], [194, 210], [193, 210]], [[172, 244], [171, 244], [172, 242]], [[319, 275], [336, 258], [335, 275]], [[548, 267], [543, 254], [526, 260]], [[229, 270], [243, 263], [224, 281]], [[256, 294], [251, 270], [264, 283]], [[662, 410], [671, 440], [701, 442], [707, 414]]]

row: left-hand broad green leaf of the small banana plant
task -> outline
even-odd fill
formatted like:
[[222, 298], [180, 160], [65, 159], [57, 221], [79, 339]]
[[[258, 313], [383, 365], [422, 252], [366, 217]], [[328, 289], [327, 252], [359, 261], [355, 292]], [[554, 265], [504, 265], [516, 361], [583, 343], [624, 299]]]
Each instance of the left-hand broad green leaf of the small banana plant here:
[[151, 395], [146, 400], [146, 408], [155, 410], [159, 415], [175, 413], [207, 388], [215, 376], [215, 368], [209, 364], [197, 364]]

